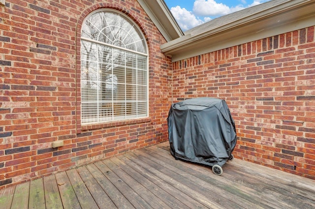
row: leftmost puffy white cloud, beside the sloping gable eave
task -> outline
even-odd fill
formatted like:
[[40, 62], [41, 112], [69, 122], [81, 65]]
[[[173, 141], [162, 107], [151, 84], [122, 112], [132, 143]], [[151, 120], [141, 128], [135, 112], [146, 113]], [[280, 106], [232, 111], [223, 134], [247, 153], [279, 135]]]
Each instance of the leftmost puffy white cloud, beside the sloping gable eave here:
[[204, 23], [199, 18], [196, 18], [192, 12], [186, 10], [185, 8], [181, 8], [180, 6], [172, 7], [171, 12], [178, 25], [184, 31]]

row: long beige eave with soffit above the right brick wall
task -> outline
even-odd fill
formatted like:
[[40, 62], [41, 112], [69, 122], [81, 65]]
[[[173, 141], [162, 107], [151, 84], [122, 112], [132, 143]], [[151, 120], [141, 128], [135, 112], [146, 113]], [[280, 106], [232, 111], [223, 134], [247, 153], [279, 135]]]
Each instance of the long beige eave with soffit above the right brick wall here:
[[[242, 11], [246, 12], [246, 9]], [[315, 0], [282, 1], [271, 8], [208, 31], [204, 30], [206, 24], [203, 24], [202, 31], [196, 27], [184, 36], [161, 45], [162, 52], [171, 56], [174, 62], [314, 26]], [[211, 28], [211, 21], [208, 24]]]

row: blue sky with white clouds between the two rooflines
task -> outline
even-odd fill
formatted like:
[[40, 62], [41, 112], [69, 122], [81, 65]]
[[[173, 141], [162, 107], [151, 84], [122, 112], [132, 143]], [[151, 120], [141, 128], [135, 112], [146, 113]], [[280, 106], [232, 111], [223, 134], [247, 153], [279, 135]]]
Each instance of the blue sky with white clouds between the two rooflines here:
[[269, 0], [164, 0], [183, 31]]

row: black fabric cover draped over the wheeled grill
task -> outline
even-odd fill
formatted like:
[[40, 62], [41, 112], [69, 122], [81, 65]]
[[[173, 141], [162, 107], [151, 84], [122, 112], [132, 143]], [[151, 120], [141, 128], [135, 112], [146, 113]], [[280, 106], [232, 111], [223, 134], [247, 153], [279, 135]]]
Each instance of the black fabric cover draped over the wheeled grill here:
[[235, 123], [224, 100], [193, 98], [173, 103], [167, 117], [174, 157], [222, 166], [236, 144]]

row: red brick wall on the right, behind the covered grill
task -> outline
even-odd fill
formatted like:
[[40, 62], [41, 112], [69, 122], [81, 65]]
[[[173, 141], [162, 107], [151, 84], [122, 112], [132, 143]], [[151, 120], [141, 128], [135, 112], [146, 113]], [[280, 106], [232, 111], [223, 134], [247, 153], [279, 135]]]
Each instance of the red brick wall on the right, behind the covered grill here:
[[225, 99], [237, 158], [315, 179], [314, 27], [173, 63], [174, 102]]

